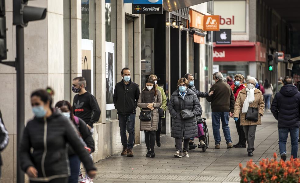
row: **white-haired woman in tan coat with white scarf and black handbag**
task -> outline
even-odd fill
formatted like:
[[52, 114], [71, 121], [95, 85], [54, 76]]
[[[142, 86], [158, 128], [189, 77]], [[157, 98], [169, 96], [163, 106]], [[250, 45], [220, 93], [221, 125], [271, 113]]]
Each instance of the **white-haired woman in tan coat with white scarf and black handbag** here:
[[247, 79], [247, 88], [238, 93], [234, 106], [234, 120], [238, 121], [241, 116], [241, 126], [248, 144], [248, 156], [253, 156], [256, 125], [262, 124], [261, 116], [265, 107], [262, 92], [255, 88], [256, 82], [254, 77]]

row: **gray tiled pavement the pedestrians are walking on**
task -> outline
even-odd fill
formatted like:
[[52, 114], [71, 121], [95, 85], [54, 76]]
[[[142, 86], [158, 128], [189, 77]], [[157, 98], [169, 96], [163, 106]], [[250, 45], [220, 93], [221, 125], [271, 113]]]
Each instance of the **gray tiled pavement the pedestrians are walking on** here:
[[[237, 183], [239, 178], [238, 164], [246, 164], [250, 157], [247, 150], [227, 149], [221, 131], [221, 149], [214, 149], [211, 120], [207, 120], [209, 128], [209, 148], [202, 152], [196, 148], [190, 150], [189, 158], [175, 158], [174, 139], [170, 134], [161, 137], [161, 147], [155, 147], [155, 158], [146, 158], [145, 143], [134, 147], [134, 157], [116, 154], [96, 163], [98, 174], [95, 183], [100, 182], [184, 182], [184, 183]], [[230, 132], [233, 144], [238, 140], [234, 120], [230, 119]], [[195, 143], [198, 139], [195, 139]], [[287, 144], [288, 156], [291, 151]], [[258, 125], [255, 137], [255, 151], [252, 160], [259, 162], [262, 158], [278, 153], [277, 121], [272, 114], [265, 114], [263, 125]], [[298, 155], [299, 157], [299, 155]]]

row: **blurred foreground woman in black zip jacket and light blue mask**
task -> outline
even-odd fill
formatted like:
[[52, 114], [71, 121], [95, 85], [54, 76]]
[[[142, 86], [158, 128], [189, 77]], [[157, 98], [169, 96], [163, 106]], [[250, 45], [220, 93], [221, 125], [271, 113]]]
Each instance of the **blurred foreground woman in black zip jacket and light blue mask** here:
[[54, 111], [45, 90], [31, 94], [34, 119], [28, 121], [20, 144], [20, 165], [30, 183], [66, 183], [70, 174], [66, 144], [74, 147], [91, 177], [96, 168], [70, 120]]

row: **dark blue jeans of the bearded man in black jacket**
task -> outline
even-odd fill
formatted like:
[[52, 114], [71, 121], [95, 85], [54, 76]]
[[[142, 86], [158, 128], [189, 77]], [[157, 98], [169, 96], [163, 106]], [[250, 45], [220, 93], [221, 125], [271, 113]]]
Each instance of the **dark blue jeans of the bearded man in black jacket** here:
[[[121, 141], [124, 147], [128, 149], [133, 149], [134, 145], [134, 126], [135, 126], [135, 114], [118, 114], [119, 118], [119, 126], [120, 126], [120, 133], [121, 133]], [[128, 132], [128, 140], [126, 135], [126, 128]]]

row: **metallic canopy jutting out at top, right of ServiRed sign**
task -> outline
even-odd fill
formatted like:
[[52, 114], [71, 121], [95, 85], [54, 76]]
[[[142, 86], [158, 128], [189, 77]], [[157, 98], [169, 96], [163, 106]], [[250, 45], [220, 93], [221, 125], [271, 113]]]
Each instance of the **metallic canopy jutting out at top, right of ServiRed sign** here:
[[182, 9], [209, 1], [211, 0], [163, 0], [163, 9], [168, 12], [172, 12], [177, 9]]

